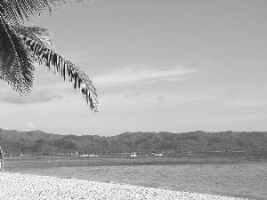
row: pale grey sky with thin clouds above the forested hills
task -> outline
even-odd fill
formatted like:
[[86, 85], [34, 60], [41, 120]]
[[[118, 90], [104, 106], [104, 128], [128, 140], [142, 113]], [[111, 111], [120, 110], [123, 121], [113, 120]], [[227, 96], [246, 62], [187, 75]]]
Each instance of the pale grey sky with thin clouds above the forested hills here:
[[92, 78], [99, 114], [36, 66], [20, 97], [0, 82], [0, 127], [63, 135], [267, 131], [267, 1], [95, 0], [27, 26]]

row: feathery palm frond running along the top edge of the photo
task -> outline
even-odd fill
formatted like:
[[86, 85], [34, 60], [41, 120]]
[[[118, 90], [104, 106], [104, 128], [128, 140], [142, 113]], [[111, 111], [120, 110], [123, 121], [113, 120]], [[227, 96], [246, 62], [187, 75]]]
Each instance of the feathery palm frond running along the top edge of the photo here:
[[5, 18], [12, 24], [23, 24], [35, 16], [51, 14], [62, 4], [81, 4], [85, 0], [0, 0]]

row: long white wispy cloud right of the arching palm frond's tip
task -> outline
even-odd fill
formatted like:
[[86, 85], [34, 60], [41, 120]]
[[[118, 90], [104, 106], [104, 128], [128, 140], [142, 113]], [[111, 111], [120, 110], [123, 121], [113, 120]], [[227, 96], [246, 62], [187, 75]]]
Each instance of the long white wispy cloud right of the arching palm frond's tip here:
[[93, 83], [97, 86], [120, 86], [123, 84], [154, 84], [158, 81], [181, 81], [187, 75], [198, 72], [196, 69], [186, 69], [181, 66], [175, 68], [151, 68], [147, 66], [120, 68], [109, 74], [95, 76]]

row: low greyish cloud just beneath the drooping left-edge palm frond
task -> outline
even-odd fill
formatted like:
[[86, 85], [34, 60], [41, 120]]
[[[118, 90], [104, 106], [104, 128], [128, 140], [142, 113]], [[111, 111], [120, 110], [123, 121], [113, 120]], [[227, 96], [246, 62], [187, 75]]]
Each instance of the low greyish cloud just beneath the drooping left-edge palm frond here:
[[0, 100], [14, 104], [41, 103], [61, 98], [60, 94], [49, 92], [46, 89], [34, 90], [26, 97], [20, 97], [16, 92], [6, 92], [6, 94], [5, 92], [2, 92], [2, 94], [0, 93]]

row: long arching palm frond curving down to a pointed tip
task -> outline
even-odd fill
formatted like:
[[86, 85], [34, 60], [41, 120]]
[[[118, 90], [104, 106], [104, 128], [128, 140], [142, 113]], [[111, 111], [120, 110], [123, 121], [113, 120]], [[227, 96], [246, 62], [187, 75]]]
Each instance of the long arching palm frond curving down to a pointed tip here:
[[83, 69], [77, 67], [72, 61], [62, 57], [52, 49], [45, 47], [44, 44], [39, 44], [27, 36], [20, 35], [20, 38], [25, 41], [28, 49], [34, 54], [34, 60], [37, 64], [50, 70], [53, 68], [54, 73], [58, 73], [64, 80], [66, 76], [69, 76], [69, 82], [73, 83], [74, 89], [78, 89], [84, 95], [90, 108], [94, 112], [98, 112], [96, 89]]

